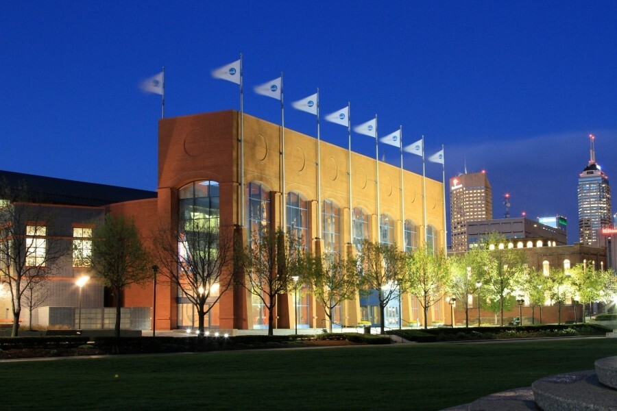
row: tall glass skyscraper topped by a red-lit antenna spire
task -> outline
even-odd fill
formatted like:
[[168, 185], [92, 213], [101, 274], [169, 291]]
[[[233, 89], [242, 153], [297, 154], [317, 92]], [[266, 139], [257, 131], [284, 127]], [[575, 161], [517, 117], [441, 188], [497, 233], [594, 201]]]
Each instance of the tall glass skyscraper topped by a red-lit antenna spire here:
[[579, 174], [579, 235], [584, 245], [594, 245], [598, 229], [611, 227], [611, 188], [608, 177], [596, 162], [595, 137], [589, 135], [590, 160]]

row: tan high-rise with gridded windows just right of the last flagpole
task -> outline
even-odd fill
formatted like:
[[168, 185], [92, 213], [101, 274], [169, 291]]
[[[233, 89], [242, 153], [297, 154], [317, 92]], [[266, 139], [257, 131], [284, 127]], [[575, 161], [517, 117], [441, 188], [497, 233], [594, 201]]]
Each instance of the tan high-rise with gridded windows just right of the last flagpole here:
[[468, 221], [493, 218], [492, 188], [486, 173], [465, 173], [450, 179], [452, 251], [467, 251]]

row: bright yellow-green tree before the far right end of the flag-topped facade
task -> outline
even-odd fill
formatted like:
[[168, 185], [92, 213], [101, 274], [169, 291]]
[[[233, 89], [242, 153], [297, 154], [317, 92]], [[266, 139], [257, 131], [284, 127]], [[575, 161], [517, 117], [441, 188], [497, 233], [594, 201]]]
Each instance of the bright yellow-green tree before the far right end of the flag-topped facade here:
[[413, 251], [407, 259], [406, 288], [418, 298], [424, 310], [424, 329], [428, 328], [428, 308], [444, 298], [450, 284], [448, 260], [444, 251], [429, 253], [424, 247]]

